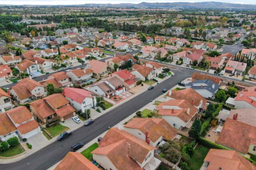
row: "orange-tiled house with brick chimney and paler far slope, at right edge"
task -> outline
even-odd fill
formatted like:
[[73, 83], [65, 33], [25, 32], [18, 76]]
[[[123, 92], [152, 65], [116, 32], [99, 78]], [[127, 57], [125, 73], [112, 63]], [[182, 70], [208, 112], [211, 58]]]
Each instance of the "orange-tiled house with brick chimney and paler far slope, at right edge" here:
[[256, 109], [234, 109], [226, 119], [217, 143], [243, 156], [256, 154]]

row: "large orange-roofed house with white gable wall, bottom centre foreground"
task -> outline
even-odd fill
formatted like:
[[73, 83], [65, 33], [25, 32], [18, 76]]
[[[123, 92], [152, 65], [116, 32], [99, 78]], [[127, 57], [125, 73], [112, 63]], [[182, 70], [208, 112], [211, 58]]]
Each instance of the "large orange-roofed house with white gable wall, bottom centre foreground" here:
[[148, 139], [142, 141], [134, 137], [121, 127], [111, 128], [91, 153], [104, 169], [155, 170], [161, 161], [154, 157], [156, 148], [149, 142]]

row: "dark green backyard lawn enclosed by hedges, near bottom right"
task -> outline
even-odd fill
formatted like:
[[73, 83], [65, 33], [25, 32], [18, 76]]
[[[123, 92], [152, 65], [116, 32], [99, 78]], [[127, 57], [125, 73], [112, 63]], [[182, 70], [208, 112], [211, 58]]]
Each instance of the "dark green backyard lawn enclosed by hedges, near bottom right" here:
[[202, 164], [204, 163], [204, 158], [209, 152], [209, 148], [204, 147], [202, 145], [197, 145], [195, 149], [195, 153], [190, 156], [190, 160], [188, 162], [188, 167], [190, 170], [199, 170]]

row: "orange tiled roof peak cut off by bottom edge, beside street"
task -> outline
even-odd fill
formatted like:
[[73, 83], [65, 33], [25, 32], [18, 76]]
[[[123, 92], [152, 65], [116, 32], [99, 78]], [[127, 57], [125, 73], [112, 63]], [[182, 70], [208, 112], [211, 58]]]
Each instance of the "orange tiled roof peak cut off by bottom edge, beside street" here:
[[100, 168], [81, 153], [68, 152], [54, 170], [100, 170]]

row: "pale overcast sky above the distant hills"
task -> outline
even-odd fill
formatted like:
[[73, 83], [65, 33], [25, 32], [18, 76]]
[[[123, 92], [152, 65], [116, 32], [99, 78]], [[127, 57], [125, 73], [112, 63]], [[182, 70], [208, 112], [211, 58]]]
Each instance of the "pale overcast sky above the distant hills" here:
[[256, 0], [0, 0], [0, 4], [13, 4], [13, 5], [72, 5], [72, 4], [120, 4], [120, 3], [134, 3], [138, 4], [140, 2], [206, 2], [206, 1], [216, 1], [216, 2], [228, 2], [237, 4], [256, 4]]

